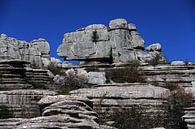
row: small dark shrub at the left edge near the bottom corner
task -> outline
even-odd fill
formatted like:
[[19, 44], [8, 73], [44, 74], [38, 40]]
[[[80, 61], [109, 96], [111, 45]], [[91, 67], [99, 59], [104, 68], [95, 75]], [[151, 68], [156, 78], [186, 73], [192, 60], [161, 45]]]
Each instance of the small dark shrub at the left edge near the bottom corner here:
[[0, 105], [0, 119], [7, 119], [13, 117], [11, 111], [9, 111], [6, 105]]

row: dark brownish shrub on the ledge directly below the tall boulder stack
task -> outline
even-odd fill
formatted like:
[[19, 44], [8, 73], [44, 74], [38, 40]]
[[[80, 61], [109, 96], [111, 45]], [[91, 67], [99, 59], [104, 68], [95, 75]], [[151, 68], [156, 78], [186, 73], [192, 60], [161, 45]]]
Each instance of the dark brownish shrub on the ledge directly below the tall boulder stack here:
[[139, 69], [139, 63], [133, 62], [127, 67], [115, 68], [106, 71], [107, 80], [112, 80], [116, 83], [133, 83], [145, 82], [145, 77]]

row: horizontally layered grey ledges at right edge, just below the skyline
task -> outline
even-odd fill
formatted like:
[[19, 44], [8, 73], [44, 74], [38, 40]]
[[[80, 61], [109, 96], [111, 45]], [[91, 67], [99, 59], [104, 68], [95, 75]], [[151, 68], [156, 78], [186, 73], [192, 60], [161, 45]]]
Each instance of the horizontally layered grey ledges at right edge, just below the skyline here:
[[148, 83], [156, 86], [183, 86], [194, 93], [195, 65], [171, 63], [157, 66], [142, 66]]

